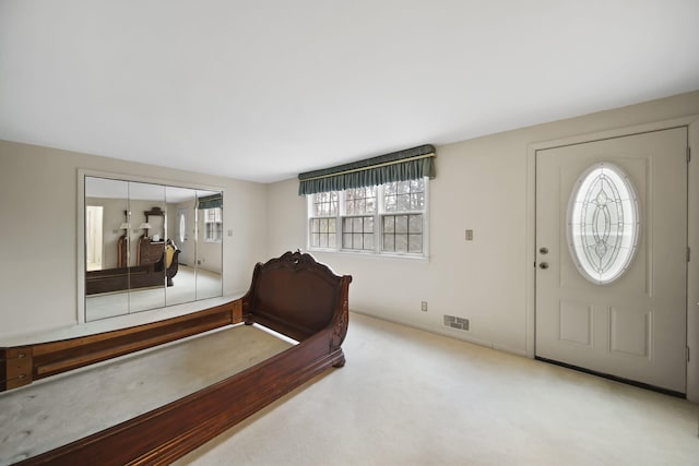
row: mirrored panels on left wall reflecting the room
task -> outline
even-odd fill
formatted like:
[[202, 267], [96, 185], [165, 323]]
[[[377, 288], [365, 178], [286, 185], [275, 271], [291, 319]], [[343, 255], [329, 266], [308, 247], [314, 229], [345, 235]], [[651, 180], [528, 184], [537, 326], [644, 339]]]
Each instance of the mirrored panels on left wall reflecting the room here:
[[223, 194], [85, 177], [85, 321], [222, 296]]

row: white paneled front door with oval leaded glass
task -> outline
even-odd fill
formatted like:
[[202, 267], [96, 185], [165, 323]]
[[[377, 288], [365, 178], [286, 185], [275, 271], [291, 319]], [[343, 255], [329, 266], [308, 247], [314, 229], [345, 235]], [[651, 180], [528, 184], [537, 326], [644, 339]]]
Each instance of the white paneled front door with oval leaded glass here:
[[538, 358], [686, 392], [686, 128], [536, 152]]

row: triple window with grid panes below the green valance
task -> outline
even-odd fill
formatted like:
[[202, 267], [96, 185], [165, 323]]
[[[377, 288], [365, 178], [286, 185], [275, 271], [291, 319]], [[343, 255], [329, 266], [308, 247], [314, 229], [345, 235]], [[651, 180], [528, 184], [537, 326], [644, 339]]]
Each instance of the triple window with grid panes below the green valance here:
[[310, 249], [426, 256], [427, 178], [308, 195]]

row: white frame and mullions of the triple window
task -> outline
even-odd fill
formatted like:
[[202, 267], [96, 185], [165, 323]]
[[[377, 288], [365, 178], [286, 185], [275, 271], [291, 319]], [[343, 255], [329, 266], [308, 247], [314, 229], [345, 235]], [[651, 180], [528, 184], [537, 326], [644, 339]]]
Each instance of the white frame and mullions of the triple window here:
[[[374, 214], [351, 214], [345, 212], [345, 191], [337, 192], [337, 210], [334, 216], [313, 216], [313, 194], [306, 195], [306, 247], [310, 251], [322, 252], [335, 252], [343, 254], [360, 254], [360, 255], [377, 255], [377, 256], [392, 256], [392, 258], [407, 258], [407, 259], [428, 259], [429, 258], [429, 178], [424, 177], [425, 186], [425, 208], [423, 211], [399, 211], [399, 212], [384, 212], [383, 205], [383, 184], [376, 187], [376, 212]], [[383, 217], [391, 215], [410, 215], [420, 214], [423, 216], [423, 251], [416, 252], [401, 252], [401, 251], [383, 251]], [[345, 249], [343, 247], [343, 219], [352, 217], [374, 217], [374, 249]], [[311, 246], [311, 220], [318, 218], [334, 218], [335, 219], [335, 247], [334, 248], [320, 248]]]

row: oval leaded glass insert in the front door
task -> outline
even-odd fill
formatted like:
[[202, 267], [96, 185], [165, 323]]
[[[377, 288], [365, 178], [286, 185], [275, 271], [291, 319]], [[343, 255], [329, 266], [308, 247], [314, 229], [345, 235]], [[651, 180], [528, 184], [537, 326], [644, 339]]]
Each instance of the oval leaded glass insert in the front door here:
[[576, 182], [568, 203], [568, 246], [578, 271], [599, 285], [628, 270], [638, 246], [639, 206], [628, 176], [599, 163]]

